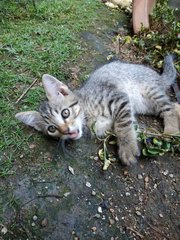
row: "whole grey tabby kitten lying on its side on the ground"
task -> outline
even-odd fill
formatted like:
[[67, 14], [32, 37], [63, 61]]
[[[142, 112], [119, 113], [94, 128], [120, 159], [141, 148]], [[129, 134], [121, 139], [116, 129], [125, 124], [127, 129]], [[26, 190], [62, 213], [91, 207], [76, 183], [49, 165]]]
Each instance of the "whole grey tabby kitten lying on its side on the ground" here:
[[175, 76], [170, 55], [164, 60], [161, 75], [143, 65], [115, 61], [92, 73], [86, 84], [74, 92], [45, 74], [42, 81], [48, 100], [38, 112], [20, 112], [16, 118], [62, 139], [80, 138], [83, 126], [91, 127], [93, 123], [98, 136], [113, 130], [119, 158], [129, 165], [139, 156], [133, 126], [135, 114], [159, 115], [164, 120], [165, 133], [180, 132], [180, 107], [165, 93]]

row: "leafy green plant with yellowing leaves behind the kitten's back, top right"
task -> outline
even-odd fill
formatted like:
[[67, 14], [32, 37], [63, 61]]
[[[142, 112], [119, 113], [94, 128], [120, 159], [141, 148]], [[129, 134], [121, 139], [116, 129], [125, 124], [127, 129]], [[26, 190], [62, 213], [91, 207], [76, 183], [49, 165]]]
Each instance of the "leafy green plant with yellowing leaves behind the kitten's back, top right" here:
[[[151, 16], [151, 28], [142, 29], [138, 34], [130, 36], [120, 33], [115, 42], [119, 41], [119, 49], [129, 49], [131, 55], [140, 58], [155, 68], [162, 68], [163, 57], [169, 53], [180, 55], [179, 27], [175, 17], [176, 9], [168, 5], [168, 0], [158, 0]], [[179, 62], [175, 63], [180, 71]]]

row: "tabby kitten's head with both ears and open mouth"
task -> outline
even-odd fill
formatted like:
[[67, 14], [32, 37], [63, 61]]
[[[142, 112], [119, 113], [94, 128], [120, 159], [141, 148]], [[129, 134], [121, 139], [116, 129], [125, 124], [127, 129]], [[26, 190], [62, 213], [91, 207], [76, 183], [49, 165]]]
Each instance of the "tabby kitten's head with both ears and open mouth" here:
[[43, 75], [42, 80], [48, 101], [41, 104], [38, 112], [20, 112], [16, 118], [55, 138], [80, 138], [84, 114], [77, 96], [67, 85], [48, 74]]

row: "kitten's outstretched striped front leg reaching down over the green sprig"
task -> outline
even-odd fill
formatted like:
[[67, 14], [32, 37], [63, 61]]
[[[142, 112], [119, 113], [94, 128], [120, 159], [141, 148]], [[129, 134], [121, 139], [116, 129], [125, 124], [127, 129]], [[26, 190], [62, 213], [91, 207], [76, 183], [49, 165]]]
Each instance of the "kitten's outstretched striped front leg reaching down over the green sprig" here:
[[114, 133], [117, 136], [118, 154], [122, 163], [130, 165], [136, 163], [136, 156], [140, 155], [133, 126], [133, 113], [127, 97], [117, 99], [115, 102]]

